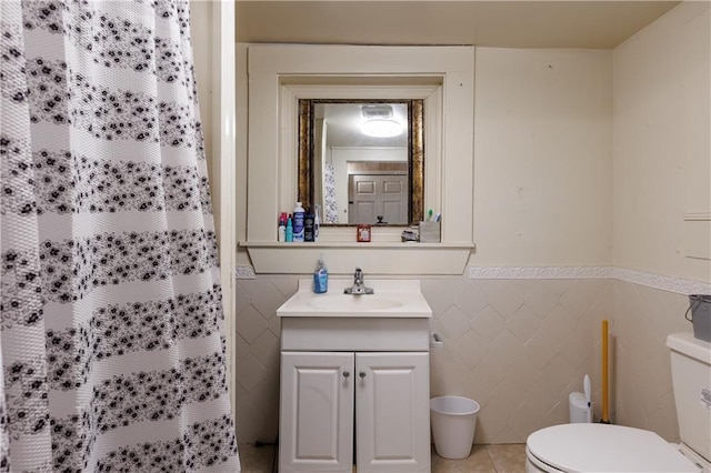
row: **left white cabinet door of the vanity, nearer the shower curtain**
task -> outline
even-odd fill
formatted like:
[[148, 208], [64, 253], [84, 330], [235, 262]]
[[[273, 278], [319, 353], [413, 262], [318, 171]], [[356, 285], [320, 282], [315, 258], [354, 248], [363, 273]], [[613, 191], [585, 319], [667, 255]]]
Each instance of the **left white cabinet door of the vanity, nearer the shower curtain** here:
[[353, 353], [281, 353], [279, 471], [351, 472], [353, 379]]

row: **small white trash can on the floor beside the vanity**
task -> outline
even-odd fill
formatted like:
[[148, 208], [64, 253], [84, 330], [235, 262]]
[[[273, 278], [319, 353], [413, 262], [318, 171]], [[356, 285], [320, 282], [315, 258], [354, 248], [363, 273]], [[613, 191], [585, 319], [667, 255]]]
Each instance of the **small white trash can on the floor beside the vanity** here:
[[444, 395], [430, 400], [434, 450], [444, 459], [465, 459], [471, 453], [479, 403], [468, 397]]

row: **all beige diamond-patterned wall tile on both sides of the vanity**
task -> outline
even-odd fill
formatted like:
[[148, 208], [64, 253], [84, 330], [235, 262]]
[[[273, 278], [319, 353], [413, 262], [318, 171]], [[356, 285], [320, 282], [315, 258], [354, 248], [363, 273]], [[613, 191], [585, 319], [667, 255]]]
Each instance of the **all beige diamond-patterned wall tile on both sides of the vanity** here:
[[[431, 351], [431, 395], [462, 395], [480, 403], [475, 443], [523, 443], [540, 427], [568, 422], [568, 396], [582, 391], [584, 374], [592, 381], [597, 421], [603, 319], [611, 330], [612, 422], [677, 439], [664, 341], [669, 333], [691, 330], [683, 316], [687, 296], [659, 289], [669, 281], [640, 283], [637, 273], [623, 279], [611, 271], [575, 274], [539, 279], [541, 274], [470, 271], [422, 279], [432, 330], [444, 340]], [[296, 275], [237, 281], [239, 442], [277, 436], [276, 310], [296, 292], [297, 282]]]

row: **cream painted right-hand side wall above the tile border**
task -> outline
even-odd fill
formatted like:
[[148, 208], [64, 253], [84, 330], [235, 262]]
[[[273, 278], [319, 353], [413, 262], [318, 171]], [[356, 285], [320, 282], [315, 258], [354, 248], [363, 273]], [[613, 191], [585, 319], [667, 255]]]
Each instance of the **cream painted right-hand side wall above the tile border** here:
[[[614, 264], [711, 281], [684, 214], [711, 214], [710, 3], [684, 2], [614, 50]], [[707, 249], [711, 241], [705, 236]]]

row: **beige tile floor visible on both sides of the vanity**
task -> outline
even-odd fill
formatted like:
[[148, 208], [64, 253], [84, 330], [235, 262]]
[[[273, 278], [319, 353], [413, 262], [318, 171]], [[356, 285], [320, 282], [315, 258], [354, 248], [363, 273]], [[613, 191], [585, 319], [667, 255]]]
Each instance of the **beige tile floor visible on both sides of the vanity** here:
[[[239, 449], [243, 473], [277, 472], [273, 445], [241, 443]], [[463, 460], [442, 459], [432, 450], [432, 473], [518, 473], [524, 470], [524, 444], [474, 445], [469, 457]]]

